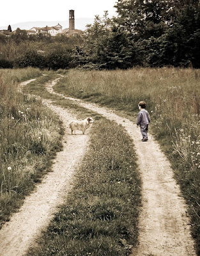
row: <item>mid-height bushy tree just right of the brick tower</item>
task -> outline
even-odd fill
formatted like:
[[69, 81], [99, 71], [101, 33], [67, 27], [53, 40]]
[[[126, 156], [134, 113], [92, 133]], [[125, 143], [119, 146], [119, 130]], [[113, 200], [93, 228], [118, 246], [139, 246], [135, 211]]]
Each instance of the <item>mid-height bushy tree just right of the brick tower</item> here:
[[93, 25], [86, 29], [84, 46], [77, 50], [85, 67], [128, 68], [134, 63], [131, 37], [108, 18], [107, 12], [102, 18], [95, 17]]

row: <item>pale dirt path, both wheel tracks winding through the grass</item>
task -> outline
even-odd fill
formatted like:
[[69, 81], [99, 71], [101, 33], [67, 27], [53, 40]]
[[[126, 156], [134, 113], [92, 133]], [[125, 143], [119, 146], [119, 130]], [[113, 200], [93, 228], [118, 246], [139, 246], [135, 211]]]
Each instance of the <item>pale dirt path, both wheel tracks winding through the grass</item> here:
[[[53, 86], [58, 79], [47, 85], [50, 93], [55, 93]], [[135, 124], [121, 118], [114, 111], [101, 108], [83, 100], [65, 97], [84, 108], [100, 113], [117, 124], [123, 125], [130, 138], [134, 140], [135, 151], [142, 177], [142, 212], [139, 220], [139, 244], [132, 250], [132, 256], [187, 256], [196, 255], [194, 241], [190, 236], [190, 222], [186, 205], [180, 196], [180, 187], [173, 179], [169, 161], [160, 150], [158, 143], [150, 136], [148, 142], [141, 141], [141, 134]], [[66, 109], [49, 107], [62, 116], [63, 124], [73, 118]], [[22, 256], [27, 248], [35, 243], [49, 224], [56, 208], [63, 202], [72, 186], [73, 170], [84, 154], [88, 136], [69, 136], [65, 131], [64, 148], [57, 154], [52, 170], [35, 193], [28, 196], [19, 212], [13, 214], [11, 221], [0, 230], [0, 255]]]

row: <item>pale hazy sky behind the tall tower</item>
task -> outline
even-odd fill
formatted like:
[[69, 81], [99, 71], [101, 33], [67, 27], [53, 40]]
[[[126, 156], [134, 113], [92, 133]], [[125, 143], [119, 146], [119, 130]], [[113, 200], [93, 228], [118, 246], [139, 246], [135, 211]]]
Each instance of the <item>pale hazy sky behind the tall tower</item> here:
[[0, 26], [27, 21], [68, 20], [68, 11], [75, 10], [75, 18], [94, 18], [95, 15], [115, 15], [116, 0], [1, 0]]

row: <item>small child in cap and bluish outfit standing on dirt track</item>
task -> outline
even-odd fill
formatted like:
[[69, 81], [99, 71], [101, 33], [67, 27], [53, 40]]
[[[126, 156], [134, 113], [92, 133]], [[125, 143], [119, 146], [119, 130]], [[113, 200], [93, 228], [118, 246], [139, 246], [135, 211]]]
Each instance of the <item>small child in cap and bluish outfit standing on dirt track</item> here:
[[142, 141], [148, 141], [148, 124], [150, 124], [150, 116], [146, 111], [146, 102], [140, 101], [138, 103], [139, 113], [137, 115], [137, 127], [141, 127]]

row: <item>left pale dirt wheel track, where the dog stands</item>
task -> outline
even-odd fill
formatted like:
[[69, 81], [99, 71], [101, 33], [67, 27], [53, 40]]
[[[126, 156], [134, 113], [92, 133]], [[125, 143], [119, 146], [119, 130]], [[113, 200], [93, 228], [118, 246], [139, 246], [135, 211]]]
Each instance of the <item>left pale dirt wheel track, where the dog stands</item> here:
[[22, 256], [35, 243], [35, 238], [47, 227], [72, 187], [73, 171], [81, 163], [89, 140], [89, 135], [69, 135], [66, 127], [69, 120], [74, 119], [69, 111], [53, 106], [50, 101], [47, 106], [63, 120], [63, 151], [57, 153], [52, 172], [43, 178], [35, 192], [27, 196], [19, 212], [13, 214], [0, 230], [1, 256]]

